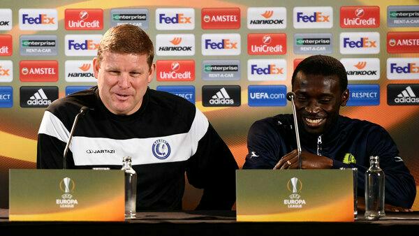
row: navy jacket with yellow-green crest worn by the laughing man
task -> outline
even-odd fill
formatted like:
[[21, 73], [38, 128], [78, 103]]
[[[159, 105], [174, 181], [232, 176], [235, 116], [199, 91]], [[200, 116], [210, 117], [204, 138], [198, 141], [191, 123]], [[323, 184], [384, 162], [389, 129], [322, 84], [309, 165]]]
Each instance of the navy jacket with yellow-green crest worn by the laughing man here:
[[[387, 131], [377, 124], [339, 116], [337, 122], [320, 138], [302, 128], [303, 151], [333, 160], [332, 168], [358, 168], [358, 196], [365, 194], [365, 171], [369, 156], [379, 156], [385, 174], [385, 202], [410, 208], [416, 197], [415, 179]], [[293, 115], [277, 115], [256, 121], [247, 137], [249, 154], [243, 169], [272, 169], [279, 159], [297, 149]]]

